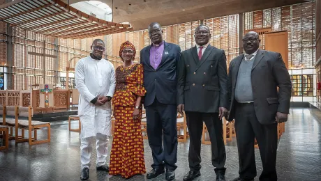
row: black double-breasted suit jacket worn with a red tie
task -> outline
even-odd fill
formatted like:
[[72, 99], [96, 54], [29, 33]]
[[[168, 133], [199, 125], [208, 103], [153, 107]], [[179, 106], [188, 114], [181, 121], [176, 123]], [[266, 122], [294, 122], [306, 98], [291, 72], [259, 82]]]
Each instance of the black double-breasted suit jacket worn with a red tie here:
[[178, 68], [177, 104], [185, 111], [218, 113], [219, 107], [228, 109], [227, 66], [222, 49], [208, 45], [201, 60], [197, 48], [181, 53]]

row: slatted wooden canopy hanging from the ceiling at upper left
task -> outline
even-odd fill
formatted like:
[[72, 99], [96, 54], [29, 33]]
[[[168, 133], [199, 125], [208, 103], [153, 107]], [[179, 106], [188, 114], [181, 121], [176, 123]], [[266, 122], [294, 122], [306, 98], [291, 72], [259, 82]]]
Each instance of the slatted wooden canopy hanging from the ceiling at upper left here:
[[16, 0], [0, 5], [0, 21], [60, 38], [89, 38], [132, 30], [87, 15], [60, 0]]

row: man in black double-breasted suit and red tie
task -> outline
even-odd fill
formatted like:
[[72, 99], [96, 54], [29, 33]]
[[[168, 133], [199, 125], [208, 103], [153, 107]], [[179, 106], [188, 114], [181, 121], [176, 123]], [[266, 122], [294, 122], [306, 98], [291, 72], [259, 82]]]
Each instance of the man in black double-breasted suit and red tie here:
[[209, 130], [216, 180], [225, 180], [225, 145], [222, 118], [227, 113], [227, 66], [222, 49], [209, 45], [209, 28], [195, 29], [196, 46], [181, 53], [178, 68], [177, 109], [186, 113], [190, 171], [184, 181], [200, 176], [203, 121]]

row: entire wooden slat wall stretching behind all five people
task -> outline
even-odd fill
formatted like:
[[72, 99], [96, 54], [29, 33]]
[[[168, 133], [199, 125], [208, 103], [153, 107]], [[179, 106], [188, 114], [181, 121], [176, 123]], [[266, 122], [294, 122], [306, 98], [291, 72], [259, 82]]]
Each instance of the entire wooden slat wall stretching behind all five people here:
[[[6, 1], [6, 0], [0, 0]], [[320, 5], [320, 0], [316, 3]], [[317, 6], [318, 7], [318, 6]], [[315, 29], [315, 3], [302, 3], [293, 6], [258, 10], [244, 13], [244, 30], [271, 27], [273, 31], [288, 30], [289, 34], [289, 65], [292, 68], [311, 68], [316, 55], [320, 57], [320, 36], [315, 36], [314, 31], [320, 32], [320, 18], [316, 19], [318, 26]], [[318, 10], [318, 9], [317, 9]], [[320, 7], [319, 7], [320, 12]], [[204, 24], [211, 31], [211, 45], [225, 50], [227, 65], [232, 58], [238, 55], [239, 48], [239, 15], [204, 19]], [[320, 13], [319, 13], [320, 16]], [[318, 23], [319, 22], [319, 23]], [[172, 26], [164, 26], [163, 34], [167, 42], [172, 42], [181, 47], [181, 51], [195, 46], [194, 30], [200, 21], [186, 22]], [[292, 27], [295, 27], [292, 28]], [[0, 22], [0, 33], [6, 33], [6, 24]], [[13, 29], [13, 84], [15, 89], [28, 88], [30, 84], [43, 83], [43, 61], [41, 56], [28, 55], [27, 52], [43, 53], [43, 40], [46, 40], [46, 54], [54, 54], [54, 39], [40, 34]], [[27, 38], [26, 40], [24, 39]], [[315, 38], [319, 41], [315, 42]], [[135, 62], [140, 61], [140, 50], [150, 45], [147, 29], [142, 31], [116, 33], [109, 36], [96, 37], [104, 40], [106, 45], [106, 58], [112, 61], [115, 67], [121, 65], [119, 46], [129, 40], [137, 50]], [[74, 56], [88, 56], [91, 52], [90, 45], [96, 38], [82, 40], [58, 39], [58, 71], [66, 72], [67, 61]], [[5, 37], [0, 35], [0, 65], [6, 63]], [[30, 40], [29, 40], [30, 39]], [[264, 40], [263, 40], [264, 46]], [[319, 47], [319, 48], [318, 48]], [[78, 59], [74, 59], [71, 67], [75, 67]], [[45, 58], [46, 82], [54, 83], [55, 58]]]

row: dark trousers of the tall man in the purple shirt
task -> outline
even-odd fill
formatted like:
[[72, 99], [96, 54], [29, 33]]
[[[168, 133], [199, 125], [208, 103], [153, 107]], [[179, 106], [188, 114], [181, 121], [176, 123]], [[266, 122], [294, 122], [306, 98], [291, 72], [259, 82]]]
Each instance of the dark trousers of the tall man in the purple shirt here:
[[[174, 171], [177, 166], [177, 105], [157, 99], [146, 109], [147, 136], [153, 155], [152, 168]], [[165, 164], [165, 165], [164, 165]]]

